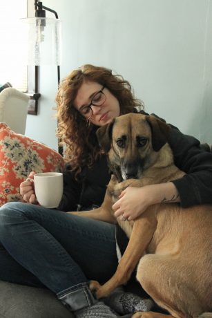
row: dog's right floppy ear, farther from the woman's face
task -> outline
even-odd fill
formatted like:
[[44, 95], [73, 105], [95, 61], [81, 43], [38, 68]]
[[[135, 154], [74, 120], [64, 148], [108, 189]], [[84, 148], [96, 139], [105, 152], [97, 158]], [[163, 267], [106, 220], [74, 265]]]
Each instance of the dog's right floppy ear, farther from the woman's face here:
[[159, 151], [168, 140], [170, 127], [153, 115], [146, 115], [146, 121], [151, 127], [153, 150]]

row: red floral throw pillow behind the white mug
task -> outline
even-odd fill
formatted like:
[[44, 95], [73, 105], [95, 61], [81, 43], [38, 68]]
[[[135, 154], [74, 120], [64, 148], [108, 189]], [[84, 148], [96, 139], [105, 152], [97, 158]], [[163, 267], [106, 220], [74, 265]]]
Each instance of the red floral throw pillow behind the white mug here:
[[0, 123], [0, 206], [22, 201], [19, 185], [30, 171], [64, 171], [64, 158], [45, 144], [15, 133]]

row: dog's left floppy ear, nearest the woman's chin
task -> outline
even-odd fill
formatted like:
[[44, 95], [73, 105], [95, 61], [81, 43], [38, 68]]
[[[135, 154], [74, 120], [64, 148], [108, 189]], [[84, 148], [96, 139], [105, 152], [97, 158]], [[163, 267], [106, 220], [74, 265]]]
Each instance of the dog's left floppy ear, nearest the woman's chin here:
[[106, 124], [99, 129], [97, 129], [96, 135], [99, 141], [100, 147], [104, 149], [105, 152], [110, 150], [110, 141], [112, 137], [112, 129], [115, 119], [113, 119], [110, 124]]

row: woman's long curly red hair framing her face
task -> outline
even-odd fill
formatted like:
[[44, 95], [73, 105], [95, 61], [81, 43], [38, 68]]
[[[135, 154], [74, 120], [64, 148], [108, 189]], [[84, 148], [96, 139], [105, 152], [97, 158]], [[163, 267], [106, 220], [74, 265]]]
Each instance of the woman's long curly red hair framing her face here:
[[86, 64], [72, 71], [59, 85], [56, 103], [57, 136], [61, 144], [65, 145], [64, 156], [75, 174], [82, 167], [92, 165], [101, 153], [95, 136], [97, 127], [86, 122], [73, 106], [77, 92], [86, 80], [108, 88], [119, 101], [120, 115], [142, 107], [142, 102], [133, 97], [131, 84], [121, 75], [113, 75], [110, 69]]

